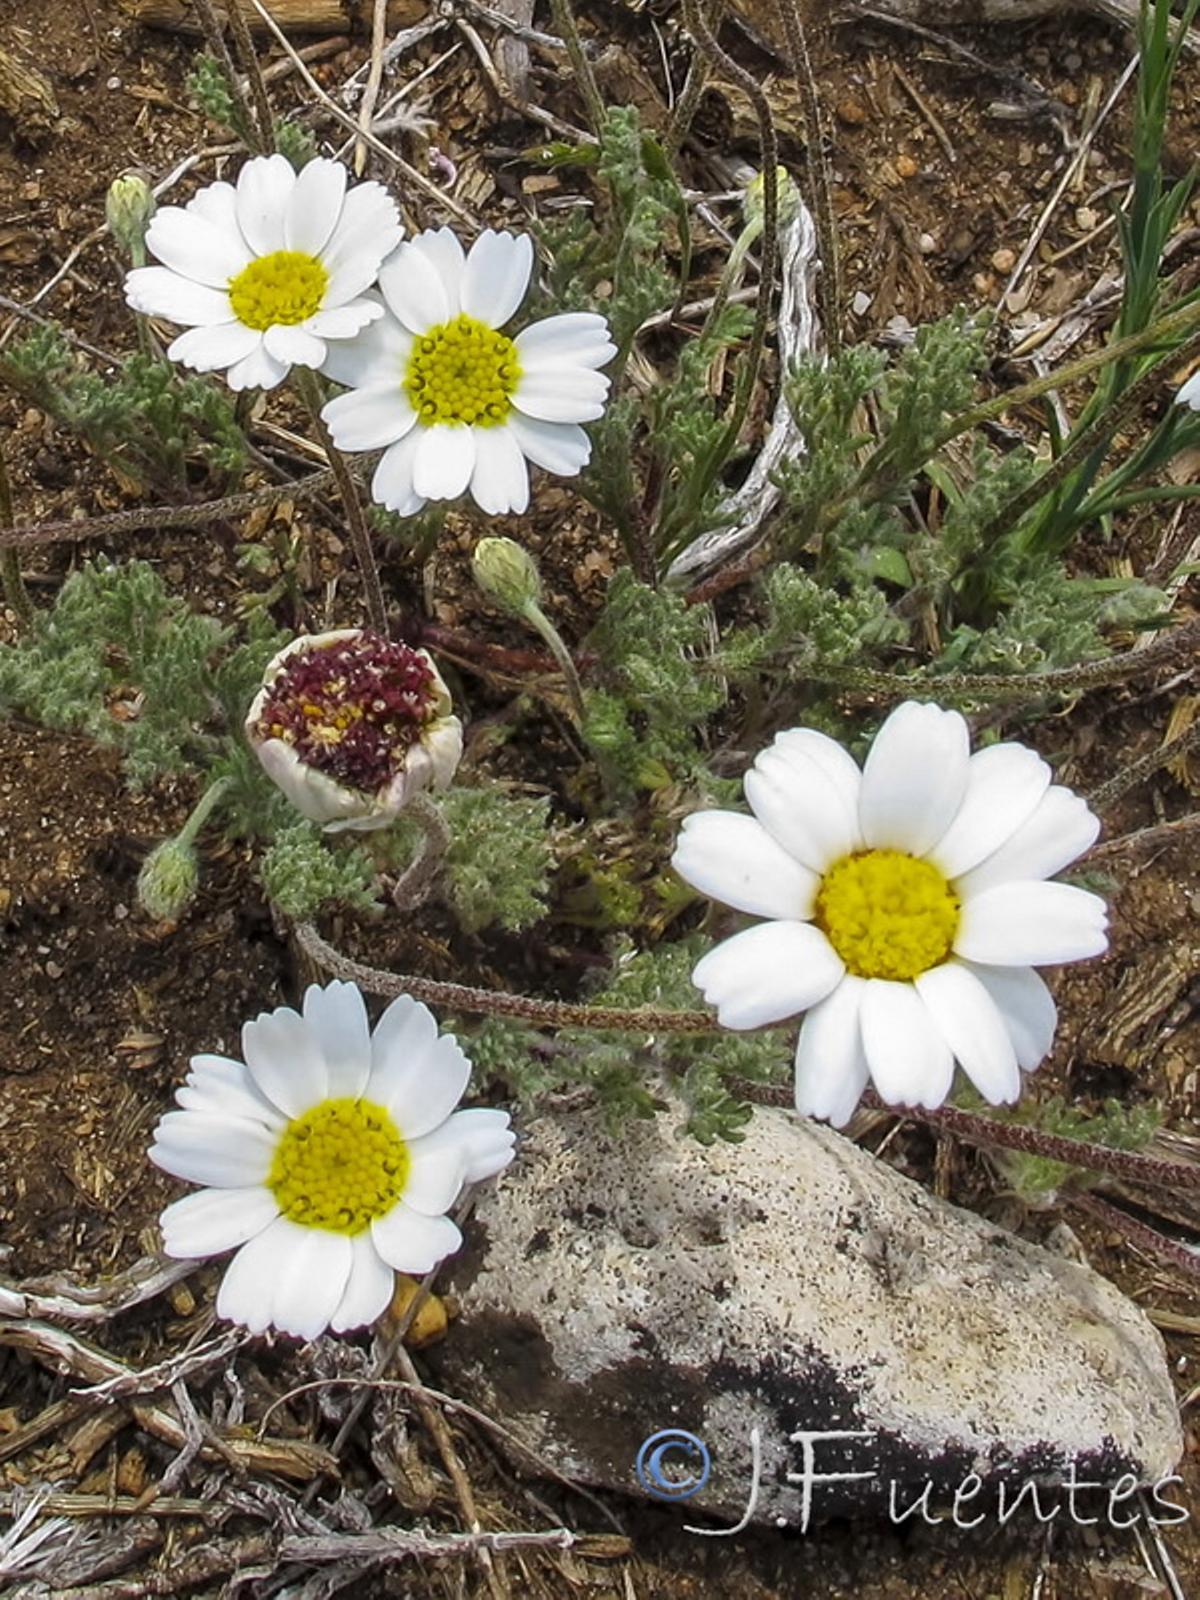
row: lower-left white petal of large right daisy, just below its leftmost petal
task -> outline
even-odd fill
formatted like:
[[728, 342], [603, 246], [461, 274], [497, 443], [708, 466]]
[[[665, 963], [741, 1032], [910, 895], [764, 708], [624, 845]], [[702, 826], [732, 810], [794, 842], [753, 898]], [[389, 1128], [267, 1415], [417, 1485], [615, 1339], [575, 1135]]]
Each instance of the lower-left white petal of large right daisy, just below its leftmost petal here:
[[806, 1011], [845, 974], [834, 947], [806, 922], [762, 922], [696, 963], [693, 984], [722, 1027], [762, 1027]]

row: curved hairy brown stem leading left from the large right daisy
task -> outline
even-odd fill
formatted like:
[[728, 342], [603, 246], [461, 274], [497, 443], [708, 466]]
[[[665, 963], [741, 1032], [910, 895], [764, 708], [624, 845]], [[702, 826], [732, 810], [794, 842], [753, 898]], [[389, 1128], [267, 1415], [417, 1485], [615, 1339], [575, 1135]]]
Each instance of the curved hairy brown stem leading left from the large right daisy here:
[[474, 989], [467, 984], [440, 982], [434, 978], [421, 978], [418, 973], [386, 973], [334, 950], [310, 922], [296, 923], [293, 931], [296, 942], [312, 962], [334, 978], [346, 978], [373, 995], [390, 998], [413, 995], [414, 1000], [445, 1006], [448, 1011], [467, 1011], [474, 1016], [515, 1016], [542, 1027], [621, 1029], [638, 1034], [718, 1032], [717, 1018], [709, 1011], [571, 1005], [563, 1000], [538, 1000], [533, 995], [507, 994], [502, 989]]

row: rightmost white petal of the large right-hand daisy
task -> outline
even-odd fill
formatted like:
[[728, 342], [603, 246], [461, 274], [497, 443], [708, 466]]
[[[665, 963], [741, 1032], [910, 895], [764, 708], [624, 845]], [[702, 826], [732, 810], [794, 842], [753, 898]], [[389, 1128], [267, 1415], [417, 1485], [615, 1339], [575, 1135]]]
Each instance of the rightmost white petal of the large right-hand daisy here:
[[1048, 966], [1102, 955], [1107, 907], [1069, 883], [995, 883], [963, 901], [954, 954], [989, 966]]

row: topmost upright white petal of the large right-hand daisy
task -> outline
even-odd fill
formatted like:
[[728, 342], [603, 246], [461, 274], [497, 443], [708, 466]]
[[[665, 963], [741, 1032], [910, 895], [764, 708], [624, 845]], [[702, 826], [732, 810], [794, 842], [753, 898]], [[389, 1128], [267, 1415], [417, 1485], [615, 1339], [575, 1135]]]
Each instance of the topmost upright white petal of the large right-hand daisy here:
[[970, 739], [957, 710], [906, 701], [862, 768], [859, 824], [872, 850], [923, 856], [954, 821], [966, 789]]

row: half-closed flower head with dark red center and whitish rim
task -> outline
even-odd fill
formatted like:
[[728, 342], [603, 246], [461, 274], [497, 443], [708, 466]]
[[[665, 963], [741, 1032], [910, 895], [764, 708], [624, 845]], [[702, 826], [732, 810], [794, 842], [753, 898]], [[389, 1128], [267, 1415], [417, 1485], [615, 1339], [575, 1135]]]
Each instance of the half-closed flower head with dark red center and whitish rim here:
[[326, 834], [386, 827], [446, 789], [462, 723], [432, 658], [360, 627], [293, 638], [267, 664], [246, 738], [296, 810]]

